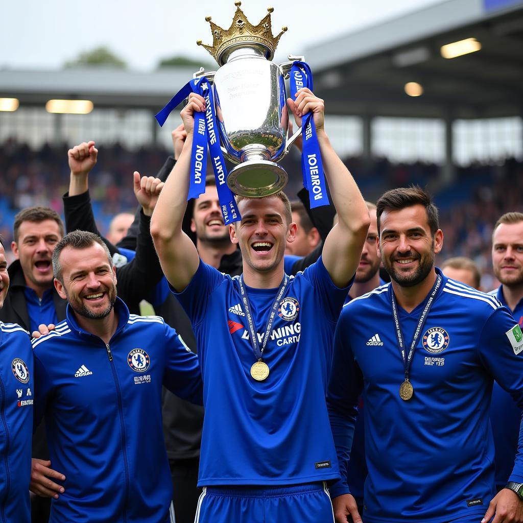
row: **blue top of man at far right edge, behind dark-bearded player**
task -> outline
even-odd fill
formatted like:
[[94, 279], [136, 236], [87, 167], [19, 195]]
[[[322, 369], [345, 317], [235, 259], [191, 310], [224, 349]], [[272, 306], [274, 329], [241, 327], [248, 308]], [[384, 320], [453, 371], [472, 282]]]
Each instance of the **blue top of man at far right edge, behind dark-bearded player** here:
[[[502, 305], [508, 309], [503, 296], [503, 286], [499, 286], [489, 294], [494, 295]], [[512, 315], [519, 326], [523, 326], [523, 300], [520, 300]], [[496, 488], [500, 490], [508, 481], [508, 476], [514, 467], [514, 454], [518, 448], [519, 424], [521, 422], [521, 409], [516, 405], [510, 394], [501, 386], [494, 383], [492, 389], [492, 402], [490, 412], [494, 447], [496, 449]]]

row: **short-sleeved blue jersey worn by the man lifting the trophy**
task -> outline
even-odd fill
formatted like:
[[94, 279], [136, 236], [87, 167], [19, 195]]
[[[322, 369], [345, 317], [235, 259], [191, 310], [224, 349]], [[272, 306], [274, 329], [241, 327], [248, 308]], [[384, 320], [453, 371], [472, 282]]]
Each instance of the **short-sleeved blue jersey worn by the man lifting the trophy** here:
[[[246, 291], [261, 345], [278, 289]], [[334, 285], [321, 258], [291, 276], [263, 352], [269, 376], [255, 381], [239, 278], [200, 260], [176, 294], [196, 334], [203, 377], [200, 486], [338, 479], [325, 393], [347, 291]]]

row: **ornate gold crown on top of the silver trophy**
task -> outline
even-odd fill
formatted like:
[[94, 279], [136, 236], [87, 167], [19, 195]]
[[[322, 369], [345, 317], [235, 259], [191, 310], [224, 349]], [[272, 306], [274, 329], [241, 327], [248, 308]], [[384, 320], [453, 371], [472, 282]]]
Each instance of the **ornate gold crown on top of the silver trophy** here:
[[267, 9], [267, 15], [259, 21], [258, 25], [253, 26], [251, 22], [247, 20], [247, 17], [241, 9], [242, 3], [240, 0], [236, 0], [234, 5], [236, 6], [236, 12], [234, 13], [234, 18], [229, 29], [221, 28], [214, 24], [210, 16], [206, 17], [206, 21], [208, 21], [211, 26], [212, 46], [207, 46], [202, 43], [201, 40], [196, 42], [198, 46], [206, 48], [219, 65], [223, 65], [221, 62], [223, 51], [232, 46], [237, 46], [237, 44], [242, 42], [261, 44], [269, 51], [268, 58], [272, 60], [281, 35], [287, 31], [287, 27], [282, 27], [279, 35], [272, 35], [270, 15], [274, 11], [274, 8], [269, 7]]

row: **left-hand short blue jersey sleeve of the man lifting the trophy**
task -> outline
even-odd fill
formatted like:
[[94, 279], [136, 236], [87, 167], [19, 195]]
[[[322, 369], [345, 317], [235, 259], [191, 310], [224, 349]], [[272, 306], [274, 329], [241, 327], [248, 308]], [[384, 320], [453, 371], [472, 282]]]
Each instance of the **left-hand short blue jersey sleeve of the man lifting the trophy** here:
[[184, 308], [193, 327], [203, 320], [207, 312], [209, 295], [223, 282], [224, 278], [225, 276], [219, 270], [203, 263], [200, 259], [197, 271], [183, 291], [176, 292], [176, 289], [169, 283], [171, 292]]

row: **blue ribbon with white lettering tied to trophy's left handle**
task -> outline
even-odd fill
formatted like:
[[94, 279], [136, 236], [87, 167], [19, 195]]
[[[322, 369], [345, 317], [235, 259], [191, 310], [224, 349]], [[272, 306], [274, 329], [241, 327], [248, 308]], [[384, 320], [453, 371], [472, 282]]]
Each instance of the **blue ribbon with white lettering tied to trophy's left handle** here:
[[220, 140], [218, 138], [217, 120], [214, 110], [213, 91], [205, 76], [195, 78], [182, 87], [167, 105], [157, 113], [156, 121], [163, 126], [165, 120], [174, 108], [189, 96], [191, 92], [201, 95], [206, 102], [206, 112], [195, 111], [194, 139], [192, 140], [189, 194], [187, 200], [198, 198], [205, 192], [205, 176], [207, 169], [207, 145], [212, 157], [212, 168], [216, 179], [218, 199], [222, 209], [225, 225], [241, 220], [240, 212], [231, 189], [227, 185], [227, 168], [223, 159]]

